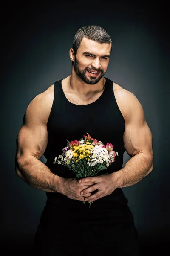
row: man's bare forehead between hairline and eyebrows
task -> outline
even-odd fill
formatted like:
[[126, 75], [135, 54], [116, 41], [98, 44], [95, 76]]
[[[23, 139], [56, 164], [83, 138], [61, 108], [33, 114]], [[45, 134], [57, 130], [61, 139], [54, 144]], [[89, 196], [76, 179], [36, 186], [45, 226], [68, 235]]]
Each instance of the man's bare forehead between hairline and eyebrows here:
[[83, 38], [77, 52], [91, 52], [94, 54], [109, 54], [111, 52], [111, 44], [100, 44], [94, 40]]

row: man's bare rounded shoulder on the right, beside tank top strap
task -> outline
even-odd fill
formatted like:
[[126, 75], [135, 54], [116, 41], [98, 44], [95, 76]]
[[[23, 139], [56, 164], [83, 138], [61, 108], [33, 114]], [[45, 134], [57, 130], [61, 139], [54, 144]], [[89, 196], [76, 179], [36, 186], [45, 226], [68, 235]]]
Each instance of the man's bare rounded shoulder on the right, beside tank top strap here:
[[122, 88], [115, 83], [113, 83], [113, 90], [116, 102], [125, 119], [125, 123], [129, 122], [134, 113], [134, 110], [139, 115], [144, 115], [141, 103], [132, 92]]

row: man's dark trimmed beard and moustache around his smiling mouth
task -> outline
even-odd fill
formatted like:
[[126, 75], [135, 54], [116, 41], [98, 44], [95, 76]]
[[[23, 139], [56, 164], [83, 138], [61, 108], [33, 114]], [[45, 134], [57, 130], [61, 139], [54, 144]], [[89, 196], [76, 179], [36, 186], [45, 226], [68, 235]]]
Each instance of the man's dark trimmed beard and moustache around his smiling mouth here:
[[[77, 76], [79, 76], [79, 78], [82, 79], [83, 82], [85, 82], [86, 84], [97, 84], [100, 79], [105, 75], [105, 72], [103, 69], [90, 69], [88, 67], [85, 67], [85, 69], [81, 70], [79, 68], [79, 61], [77, 60], [76, 56], [75, 56], [75, 60], [73, 62], [73, 65], [74, 65], [74, 70], [77, 74]], [[97, 72], [100, 72], [100, 75], [99, 77], [93, 77], [91, 76], [91, 78], [88, 78], [87, 75], [86, 75], [86, 71], [97, 71]]]

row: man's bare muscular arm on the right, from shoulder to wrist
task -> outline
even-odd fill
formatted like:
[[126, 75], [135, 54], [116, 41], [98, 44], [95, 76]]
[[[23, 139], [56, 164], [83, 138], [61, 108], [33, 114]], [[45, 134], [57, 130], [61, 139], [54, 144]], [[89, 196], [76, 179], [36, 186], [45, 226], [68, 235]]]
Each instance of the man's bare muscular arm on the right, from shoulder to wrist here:
[[153, 138], [139, 100], [127, 90], [120, 93], [126, 109], [124, 147], [131, 158], [121, 170], [112, 175], [118, 187], [122, 188], [136, 184], [152, 171]]

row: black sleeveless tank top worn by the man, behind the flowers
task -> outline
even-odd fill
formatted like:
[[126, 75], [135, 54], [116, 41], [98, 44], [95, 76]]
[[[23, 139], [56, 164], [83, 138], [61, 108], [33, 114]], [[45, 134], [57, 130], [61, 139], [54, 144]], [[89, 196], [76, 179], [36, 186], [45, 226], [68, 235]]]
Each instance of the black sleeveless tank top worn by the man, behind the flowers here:
[[[83, 135], [87, 135], [86, 132], [105, 145], [111, 143], [114, 146], [113, 150], [119, 154], [115, 157], [115, 162], [100, 174], [122, 169], [125, 152], [123, 143], [125, 120], [115, 99], [113, 81], [105, 79], [102, 95], [95, 102], [87, 105], [76, 105], [68, 101], [62, 90], [62, 79], [54, 83], [54, 101], [47, 123], [48, 145], [44, 152], [47, 159], [45, 164], [54, 174], [64, 178], [76, 177], [67, 167], [53, 164], [53, 161], [62, 154], [62, 148], [66, 147], [67, 140], [80, 140]], [[123, 195], [122, 189], [116, 189], [109, 196], [118, 193]], [[46, 192], [46, 194], [48, 199], [54, 201], [67, 198], [61, 193]]]

